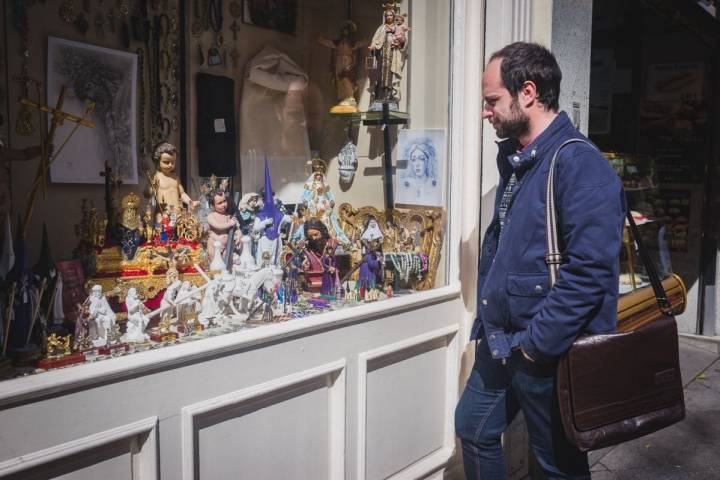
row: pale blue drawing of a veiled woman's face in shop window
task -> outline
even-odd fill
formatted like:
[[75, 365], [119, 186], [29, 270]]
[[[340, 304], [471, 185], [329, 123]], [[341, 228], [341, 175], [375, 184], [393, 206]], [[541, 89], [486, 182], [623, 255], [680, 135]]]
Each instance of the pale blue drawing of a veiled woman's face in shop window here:
[[398, 133], [395, 202], [443, 206], [445, 130], [405, 129]]

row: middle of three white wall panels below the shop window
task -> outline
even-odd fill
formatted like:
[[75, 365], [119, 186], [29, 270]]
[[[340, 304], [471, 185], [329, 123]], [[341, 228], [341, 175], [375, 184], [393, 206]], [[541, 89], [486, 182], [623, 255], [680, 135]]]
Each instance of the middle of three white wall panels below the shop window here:
[[183, 478], [342, 476], [344, 368], [340, 360], [183, 408]]

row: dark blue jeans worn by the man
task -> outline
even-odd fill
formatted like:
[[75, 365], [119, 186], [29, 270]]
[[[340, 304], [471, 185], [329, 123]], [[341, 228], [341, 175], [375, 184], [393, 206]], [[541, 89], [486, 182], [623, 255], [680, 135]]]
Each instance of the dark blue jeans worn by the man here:
[[455, 410], [467, 480], [503, 480], [506, 464], [500, 436], [522, 409], [530, 443], [545, 478], [589, 479], [587, 454], [565, 438], [555, 393], [557, 365], [539, 365], [519, 351], [503, 365], [484, 341]]

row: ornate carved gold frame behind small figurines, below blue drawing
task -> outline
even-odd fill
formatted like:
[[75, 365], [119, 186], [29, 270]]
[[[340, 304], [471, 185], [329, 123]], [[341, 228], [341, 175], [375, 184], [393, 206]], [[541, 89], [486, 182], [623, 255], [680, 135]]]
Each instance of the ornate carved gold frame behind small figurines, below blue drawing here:
[[411, 280], [410, 286], [417, 290], [435, 287], [445, 238], [445, 212], [442, 208], [395, 208], [381, 211], [375, 207], [353, 208], [349, 203], [343, 203], [338, 215], [340, 227], [353, 243], [360, 238], [365, 219], [372, 215], [377, 219], [384, 235], [383, 252], [425, 253], [428, 256], [428, 272], [422, 280]]

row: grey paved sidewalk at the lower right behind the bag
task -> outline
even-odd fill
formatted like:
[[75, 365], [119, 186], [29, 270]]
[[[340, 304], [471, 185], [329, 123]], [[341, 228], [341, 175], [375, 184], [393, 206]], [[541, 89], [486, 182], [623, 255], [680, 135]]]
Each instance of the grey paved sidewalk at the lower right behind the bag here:
[[593, 480], [720, 479], [720, 344], [680, 339], [686, 417], [590, 454]]

